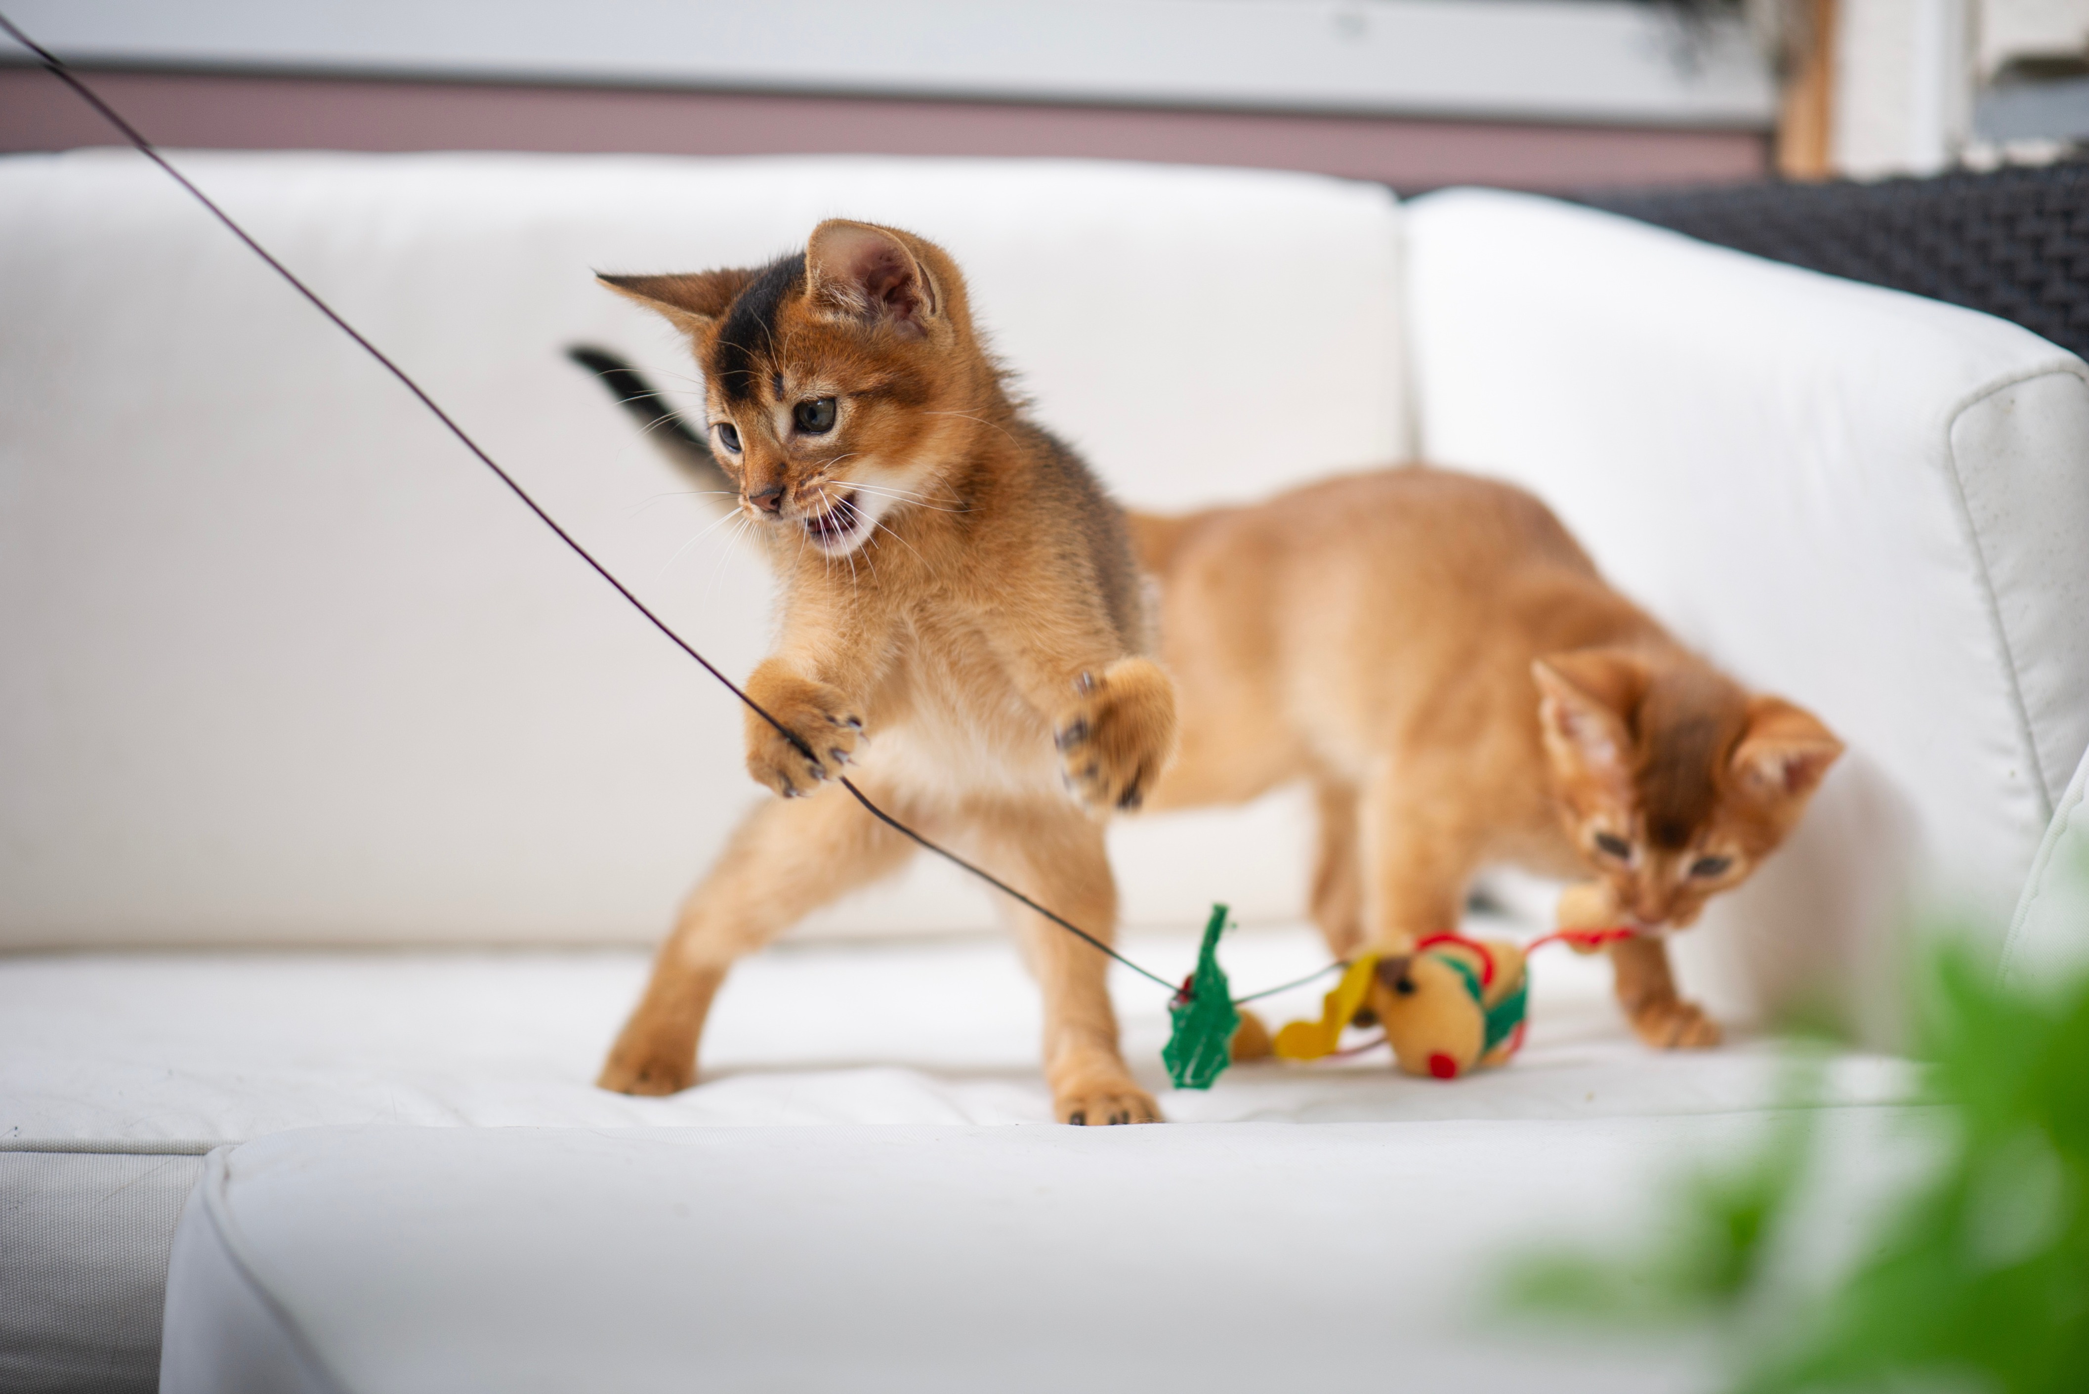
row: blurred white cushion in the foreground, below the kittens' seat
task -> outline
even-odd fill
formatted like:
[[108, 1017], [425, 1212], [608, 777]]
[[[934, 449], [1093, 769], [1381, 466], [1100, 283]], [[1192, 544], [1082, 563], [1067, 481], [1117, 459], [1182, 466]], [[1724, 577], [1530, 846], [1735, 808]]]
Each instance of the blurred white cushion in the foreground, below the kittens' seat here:
[[[1759, 1114], [1168, 1129], [328, 1129], [211, 1156], [163, 1394], [1713, 1388], [1709, 1342], [1506, 1325]], [[1828, 1114], [1847, 1248], [1899, 1110]], [[1859, 1202], [1859, 1204], [1851, 1204]]]

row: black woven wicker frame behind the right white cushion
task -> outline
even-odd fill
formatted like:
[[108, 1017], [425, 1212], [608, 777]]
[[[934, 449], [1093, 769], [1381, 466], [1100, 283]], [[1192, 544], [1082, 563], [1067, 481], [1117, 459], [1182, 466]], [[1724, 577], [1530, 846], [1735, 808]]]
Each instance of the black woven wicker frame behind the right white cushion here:
[[2089, 161], [1876, 184], [1613, 190], [1579, 203], [1980, 309], [2089, 357]]

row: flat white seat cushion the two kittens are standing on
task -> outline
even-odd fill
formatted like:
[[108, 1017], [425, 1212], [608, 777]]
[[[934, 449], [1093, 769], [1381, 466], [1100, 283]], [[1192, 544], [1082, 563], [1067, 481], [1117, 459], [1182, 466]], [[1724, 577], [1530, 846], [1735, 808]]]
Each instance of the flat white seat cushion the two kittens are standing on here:
[[[1187, 936], [1128, 951], [1164, 976]], [[1237, 991], [1327, 961], [1308, 930], [1241, 932]], [[646, 959], [579, 953], [134, 953], [0, 959], [0, 1139], [244, 1141], [284, 1129], [1044, 1122], [1038, 1001], [1011, 945], [798, 945], [746, 959], [704, 1039], [706, 1083], [631, 1099], [591, 1081]], [[1609, 966], [1546, 949], [1529, 1045], [1454, 1085], [1395, 1076], [1383, 1051], [1314, 1068], [1253, 1066], [1168, 1093], [1166, 993], [1118, 970], [1126, 1058], [1172, 1118], [1556, 1118], [1759, 1108], [1776, 1051], [1654, 1053], [1609, 1003]], [[1329, 984], [1264, 1003], [1318, 1012]], [[1905, 1097], [1886, 1058], [1851, 1055], [1845, 1101]]]

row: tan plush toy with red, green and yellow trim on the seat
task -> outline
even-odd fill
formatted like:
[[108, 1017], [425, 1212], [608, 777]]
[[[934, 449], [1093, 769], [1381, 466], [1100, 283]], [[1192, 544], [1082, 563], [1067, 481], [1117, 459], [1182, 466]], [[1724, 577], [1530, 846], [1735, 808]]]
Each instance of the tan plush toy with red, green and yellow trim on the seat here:
[[1414, 953], [1356, 957], [1322, 999], [1318, 1022], [1291, 1022], [1270, 1039], [1243, 1012], [1233, 1058], [1320, 1060], [1335, 1053], [1345, 1026], [1377, 1018], [1402, 1070], [1458, 1078], [1517, 1053], [1527, 1001], [1523, 949], [1498, 938], [1431, 934]]

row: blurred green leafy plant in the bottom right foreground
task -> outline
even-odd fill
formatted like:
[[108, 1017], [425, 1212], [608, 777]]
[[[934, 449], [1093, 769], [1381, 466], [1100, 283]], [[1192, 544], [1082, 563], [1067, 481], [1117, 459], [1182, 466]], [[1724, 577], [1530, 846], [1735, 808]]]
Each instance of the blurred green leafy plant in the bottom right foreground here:
[[1820, 1168], [1794, 1110], [1748, 1164], [1688, 1183], [1654, 1252], [1533, 1260], [1512, 1298], [1726, 1323], [1746, 1333], [1734, 1342], [1744, 1394], [2089, 1390], [2089, 976], [2008, 986], [1974, 951], [1945, 947], [1922, 982], [1918, 1055], [1943, 1156], [1884, 1208], [1836, 1285], [1797, 1292], [1776, 1262]]

